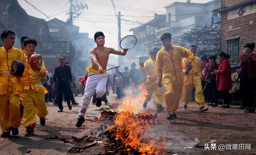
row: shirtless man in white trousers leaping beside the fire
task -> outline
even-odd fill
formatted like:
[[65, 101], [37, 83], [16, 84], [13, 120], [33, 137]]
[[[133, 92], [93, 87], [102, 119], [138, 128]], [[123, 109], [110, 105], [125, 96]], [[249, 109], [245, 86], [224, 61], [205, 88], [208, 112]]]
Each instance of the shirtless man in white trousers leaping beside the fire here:
[[82, 123], [85, 122], [85, 111], [90, 104], [92, 95], [96, 89], [97, 101], [96, 106], [101, 106], [101, 97], [106, 91], [106, 83], [108, 74], [106, 73], [106, 67], [109, 61], [109, 54], [116, 54], [125, 56], [128, 48], [125, 48], [123, 51], [117, 51], [113, 48], [104, 47], [105, 36], [102, 32], [96, 32], [94, 34], [94, 41], [97, 44], [97, 47], [94, 47], [90, 50], [90, 57], [92, 59], [92, 66], [87, 68], [88, 75], [100, 72], [100, 74], [95, 74], [88, 77], [85, 85], [85, 93], [82, 98], [82, 105], [79, 112], [79, 119], [76, 124], [76, 127], [81, 127]]

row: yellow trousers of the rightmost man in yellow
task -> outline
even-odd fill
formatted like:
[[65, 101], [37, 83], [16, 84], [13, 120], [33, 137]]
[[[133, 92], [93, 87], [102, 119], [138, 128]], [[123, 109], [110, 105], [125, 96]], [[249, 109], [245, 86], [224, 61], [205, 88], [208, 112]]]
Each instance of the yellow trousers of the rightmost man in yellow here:
[[205, 103], [205, 97], [203, 94], [201, 81], [197, 82], [197, 84], [192, 83], [192, 84], [183, 85], [182, 101], [184, 102], [184, 105], [188, 105], [188, 102], [190, 101], [191, 92], [194, 86], [195, 86], [195, 101], [201, 108], [204, 106], [204, 103]]

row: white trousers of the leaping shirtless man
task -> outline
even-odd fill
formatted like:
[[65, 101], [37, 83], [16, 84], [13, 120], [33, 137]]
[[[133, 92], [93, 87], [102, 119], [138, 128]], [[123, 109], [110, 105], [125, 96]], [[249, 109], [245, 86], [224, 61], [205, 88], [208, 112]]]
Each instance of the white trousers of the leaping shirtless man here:
[[[88, 75], [91, 75], [89, 73]], [[94, 74], [89, 76], [85, 84], [85, 93], [82, 99], [82, 105], [79, 112], [79, 116], [85, 116], [85, 112], [91, 102], [92, 95], [96, 89], [97, 98], [101, 98], [106, 92], [108, 74]]]

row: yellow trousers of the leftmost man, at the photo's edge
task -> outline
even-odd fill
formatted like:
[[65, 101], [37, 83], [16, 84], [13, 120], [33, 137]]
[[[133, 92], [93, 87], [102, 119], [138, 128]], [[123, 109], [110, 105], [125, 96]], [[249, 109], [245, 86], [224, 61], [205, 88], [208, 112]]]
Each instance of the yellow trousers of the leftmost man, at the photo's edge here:
[[11, 127], [18, 128], [21, 124], [20, 95], [13, 94], [12, 86], [8, 86], [6, 95], [0, 95], [0, 123], [3, 132], [9, 132]]

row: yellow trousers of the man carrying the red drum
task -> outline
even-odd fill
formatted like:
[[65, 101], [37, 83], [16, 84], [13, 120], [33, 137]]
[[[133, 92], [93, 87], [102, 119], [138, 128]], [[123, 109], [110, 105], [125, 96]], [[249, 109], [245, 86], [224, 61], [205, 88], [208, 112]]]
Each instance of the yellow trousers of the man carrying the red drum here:
[[36, 115], [45, 118], [48, 115], [48, 108], [44, 101], [44, 93], [33, 89], [24, 90], [21, 94], [21, 103], [24, 106], [23, 126], [34, 128], [36, 125]]

